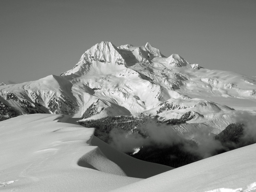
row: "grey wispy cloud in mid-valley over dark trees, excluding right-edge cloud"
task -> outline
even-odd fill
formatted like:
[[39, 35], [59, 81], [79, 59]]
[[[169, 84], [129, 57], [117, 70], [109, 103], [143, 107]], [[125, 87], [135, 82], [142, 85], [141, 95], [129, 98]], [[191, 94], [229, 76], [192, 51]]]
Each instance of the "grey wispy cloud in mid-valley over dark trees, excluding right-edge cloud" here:
[[[211, 156], [216, 150], [221, 148], [219, 141], [215, 141], [209, 132], [202, 131], [195, 135], [199, 141], [198, 147], [191, 145], [191, 142], [181, 138], [172, 126], [156, 124], [154, 121], [138, 127], [137, 132], [129, 133], [125, 130], [113, 129], [110, 132], [113, 147], [125, 153], [133, 152], [133, 149], [141, 146], [174, 146], [180, 145], [186, 152], [192, 152], [200, 157]], [[142, 133], [139, 134], [138, 132]]]

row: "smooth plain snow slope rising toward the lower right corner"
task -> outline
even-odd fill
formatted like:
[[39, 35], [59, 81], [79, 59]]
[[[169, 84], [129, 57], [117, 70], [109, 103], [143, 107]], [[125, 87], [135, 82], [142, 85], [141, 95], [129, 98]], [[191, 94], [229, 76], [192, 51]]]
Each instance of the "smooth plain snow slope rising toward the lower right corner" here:
[[126, 185], [113, 192], [256, 191], [256, 144], [209, 157]]

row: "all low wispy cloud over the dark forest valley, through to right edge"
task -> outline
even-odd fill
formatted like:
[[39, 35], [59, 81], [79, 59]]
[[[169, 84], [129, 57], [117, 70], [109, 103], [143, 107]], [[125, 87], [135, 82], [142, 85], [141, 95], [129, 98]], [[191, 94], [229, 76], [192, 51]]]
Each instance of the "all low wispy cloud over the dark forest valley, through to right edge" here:
[[[256, 116], [247, 112], [237, 112], [233, 118], [233, 123], [244, 125], [243, 135], [239, 143], [231, 143], [233, 149], [245, 146], [247, 144], [256, 143]], [[207, 158], [221, 152], [229, 151], [227, 145], [216, 140], [210, 131], [201, 129], [194, 135], [193, 145], [188, 140], [181, 138], [171, 126], [165, 124], [156, 124], [154, 121], [141, 125], [134, 132], [113, 129], [110, 132], [112, 142], [110, 143], [119, 151], [132, 153], [133, 149], [145, 146], [182, 146], [184, 152], [192, 153], [200, 158]]]

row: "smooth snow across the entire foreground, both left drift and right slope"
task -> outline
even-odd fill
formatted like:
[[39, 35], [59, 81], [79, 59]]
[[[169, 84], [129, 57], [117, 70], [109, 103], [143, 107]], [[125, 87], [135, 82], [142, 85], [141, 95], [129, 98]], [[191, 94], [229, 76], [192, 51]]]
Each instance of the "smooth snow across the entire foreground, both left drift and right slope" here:
[[256, 191], [256, 144], [171, 170], [122, 154], [93, 132], [66, 115], [1, 121], [0, 190]]

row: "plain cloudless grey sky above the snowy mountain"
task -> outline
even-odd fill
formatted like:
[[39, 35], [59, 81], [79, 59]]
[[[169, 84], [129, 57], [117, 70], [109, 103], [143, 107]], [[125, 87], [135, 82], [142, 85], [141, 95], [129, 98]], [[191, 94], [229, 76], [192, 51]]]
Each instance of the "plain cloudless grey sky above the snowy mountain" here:
[[60, 75], [101, 41], [256, 76], [255, 35], [256, 0], [1, 0], [0, 83]]

